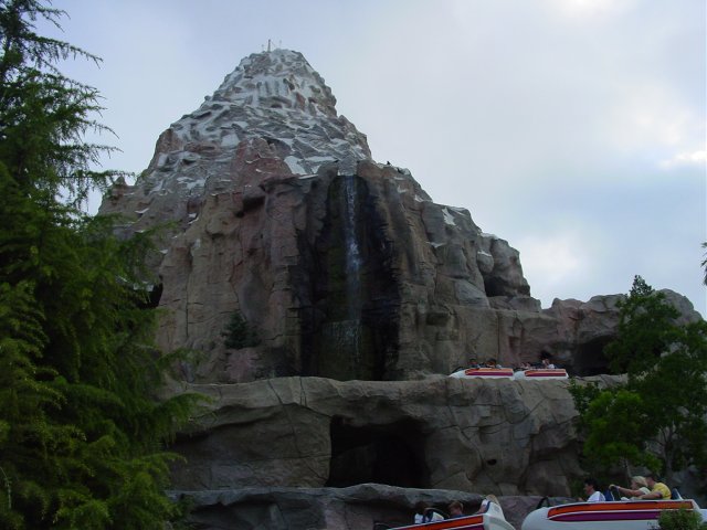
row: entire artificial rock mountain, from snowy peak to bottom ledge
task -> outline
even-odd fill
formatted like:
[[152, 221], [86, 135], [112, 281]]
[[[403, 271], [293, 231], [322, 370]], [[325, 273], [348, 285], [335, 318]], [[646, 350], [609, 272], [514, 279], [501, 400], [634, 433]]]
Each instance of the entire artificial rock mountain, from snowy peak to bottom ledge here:
[[[253, 54], [101, 208], [126, 235], [170, 223], [150, 263], [157, 340], [196, 352], [176, 391], [213, 398], [175, 447], [200, 528], [363, 528], [371, 516], [351, 507], [391, 517], [441, 490], [569, 495], [581, 469], [563, 383], [443, 375], [542, 350], [602, 373], [620, 296], [541, 309], [516, 250], [376, 162], [335, 105], [302, 54]], [[225, 347], [234, 312], [257, 346]], [[402, 489], [331, 489], [367, 483]]]

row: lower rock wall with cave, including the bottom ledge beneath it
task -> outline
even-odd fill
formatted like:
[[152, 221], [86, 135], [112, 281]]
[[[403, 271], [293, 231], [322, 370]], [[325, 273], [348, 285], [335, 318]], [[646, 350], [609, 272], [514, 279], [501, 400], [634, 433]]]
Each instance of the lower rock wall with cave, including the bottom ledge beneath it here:
[[199, 528], [402, 524], [418, 500], [446, 509], [458, 499], [473, 513], [479, 492], [500, 496], [520, 528], [540, 496], [568, 495], [581, 473], [567, 382], [278, 378], [187, 389], [211, 401], [172, 447], [187, 458], [172, 495], [192, 500]]

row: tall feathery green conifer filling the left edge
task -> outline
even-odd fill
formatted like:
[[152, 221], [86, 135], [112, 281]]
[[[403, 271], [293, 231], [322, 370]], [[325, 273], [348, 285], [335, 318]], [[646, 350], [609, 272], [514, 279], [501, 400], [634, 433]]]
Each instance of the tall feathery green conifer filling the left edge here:
[[0, 528], [157, 529], [176, 511], [162, 443], [193, 398], [155, 395], [148, 239], [80, 209], [117, 173], [83, 141], [96, 91], [55, 66], [96, 57], [34, 31], [62, 15], [0, 0]]

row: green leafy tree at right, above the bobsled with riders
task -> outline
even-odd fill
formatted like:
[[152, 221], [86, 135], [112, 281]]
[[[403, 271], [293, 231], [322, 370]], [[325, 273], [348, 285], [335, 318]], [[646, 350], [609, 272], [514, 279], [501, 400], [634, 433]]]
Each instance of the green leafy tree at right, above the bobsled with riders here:
[[678, 312], [636, 276], [621, 304], [619, 333], [605, 353], [626, 382], [606, 390], [571, 388], [584, 455], [609, 468], [704, 466], [707, 449], [707, 324], [678, 325]]

